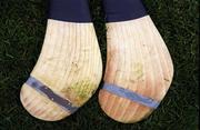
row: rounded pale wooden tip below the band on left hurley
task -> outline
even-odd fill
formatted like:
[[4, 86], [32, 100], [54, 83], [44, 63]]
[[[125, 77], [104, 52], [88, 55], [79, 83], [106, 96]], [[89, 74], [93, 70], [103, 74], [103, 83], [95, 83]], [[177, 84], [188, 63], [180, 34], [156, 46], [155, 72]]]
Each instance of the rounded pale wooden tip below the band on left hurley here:
[[21, 88], [20, 100], [24, 109], [40, 120], [58, 121], [70, 114], [28, 84], [23, 84]]

